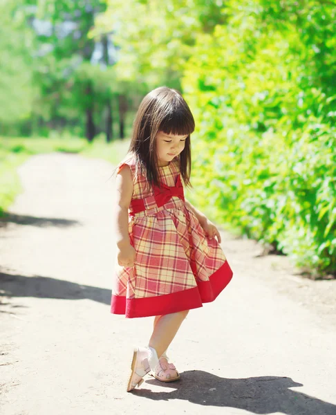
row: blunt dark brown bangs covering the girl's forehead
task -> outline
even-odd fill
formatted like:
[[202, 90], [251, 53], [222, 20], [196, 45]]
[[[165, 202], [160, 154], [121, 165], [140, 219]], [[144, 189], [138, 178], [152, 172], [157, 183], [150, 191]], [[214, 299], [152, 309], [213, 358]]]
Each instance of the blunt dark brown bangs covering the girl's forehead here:
[[172, 109], [162, 119], [159, 130], [174, 136], [189, 136], [195, 129], [195, 121], [189, 108]]

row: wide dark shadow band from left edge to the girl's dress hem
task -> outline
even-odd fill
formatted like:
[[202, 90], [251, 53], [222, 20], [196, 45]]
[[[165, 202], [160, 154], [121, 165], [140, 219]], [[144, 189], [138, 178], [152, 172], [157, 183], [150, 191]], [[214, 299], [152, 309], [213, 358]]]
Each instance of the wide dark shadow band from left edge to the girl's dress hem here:
[[[1, 297], [92, 299], [111, 304], [111, 290], [49, 277], [24, 277], [0, 272]], [[1, 302], [0, 302], [1, 305]]]

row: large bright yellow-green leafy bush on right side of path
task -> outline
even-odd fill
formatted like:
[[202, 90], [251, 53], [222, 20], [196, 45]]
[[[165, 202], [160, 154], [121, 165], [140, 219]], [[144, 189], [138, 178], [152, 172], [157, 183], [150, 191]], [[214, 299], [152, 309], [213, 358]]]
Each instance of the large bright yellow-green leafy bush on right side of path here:
[[312, 48], [316, 8], [303, 23], [262, 1], [230, 4], [227, 26], [199, 35], [185, 67], [197, 202], [313, 274], [336, 273], [335, 50], [321, 62]]

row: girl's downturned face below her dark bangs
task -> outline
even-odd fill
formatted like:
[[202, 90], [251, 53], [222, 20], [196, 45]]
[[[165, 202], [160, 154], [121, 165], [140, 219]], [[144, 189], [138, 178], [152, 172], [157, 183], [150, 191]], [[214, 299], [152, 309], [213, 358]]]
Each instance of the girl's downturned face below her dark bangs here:
[[185, 140], [187, 136], [174, 136], [174, 134], [166, 134], [158, 131], [156, 135], [156, 148], [158, 151], [159, 167], [168, 165], [169, 161], [178, 156], [185, 148]]

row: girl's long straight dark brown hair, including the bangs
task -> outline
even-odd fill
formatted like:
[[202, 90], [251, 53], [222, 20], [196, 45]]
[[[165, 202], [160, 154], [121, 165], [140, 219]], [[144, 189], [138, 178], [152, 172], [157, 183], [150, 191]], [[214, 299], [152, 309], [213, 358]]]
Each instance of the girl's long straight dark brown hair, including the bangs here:
[[136, 158], [136, 176], [143, 174], [148, 183], [160, 186], [156, 134], [163, 131], [177, 136], [188, 135], [185, 148], [179, 154], [180, 174], [186, 186], [190, 183], [192, 154], [190, 134], [195, 121], [187, 102], [176, 89], [160, 86], [149, 92], [140, 103], [133, 122], [131, 144], [127, 154]]

